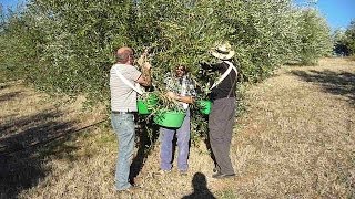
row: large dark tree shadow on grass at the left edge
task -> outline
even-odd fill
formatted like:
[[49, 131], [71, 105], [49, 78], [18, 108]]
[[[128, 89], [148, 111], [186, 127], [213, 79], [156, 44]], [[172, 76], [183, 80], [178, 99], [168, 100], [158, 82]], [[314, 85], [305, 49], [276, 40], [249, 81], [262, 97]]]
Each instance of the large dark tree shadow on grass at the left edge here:
[[[36, 187], [49, 171], [43, 151], [74, 150], [62, 145], [70, 138], [74, 122], [60, 121], [62, 113], [45, 111], [0, 123], [0, 198], [18, 198]], [[65, 148], [67, 147], [67, 148]]]

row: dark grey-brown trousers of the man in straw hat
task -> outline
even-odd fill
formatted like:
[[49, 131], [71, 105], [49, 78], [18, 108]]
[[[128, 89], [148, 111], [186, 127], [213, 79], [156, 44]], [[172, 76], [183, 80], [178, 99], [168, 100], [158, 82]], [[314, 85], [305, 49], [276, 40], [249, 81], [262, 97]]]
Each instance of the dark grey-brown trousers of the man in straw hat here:
[[234, 115], [235, 97], [213, 101], [209, 116], [210, 144], [217, 171], [226, 175], [234, 174], [230, 158]]

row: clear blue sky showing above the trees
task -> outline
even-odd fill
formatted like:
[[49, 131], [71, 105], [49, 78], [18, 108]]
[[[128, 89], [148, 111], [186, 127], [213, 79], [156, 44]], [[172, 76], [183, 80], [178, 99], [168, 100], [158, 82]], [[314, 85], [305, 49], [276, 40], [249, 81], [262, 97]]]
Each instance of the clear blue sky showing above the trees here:
[[[0, 0], [4, 8], [16, 8], [17, 3], [26, 0]], [[310, 0], [293, 0], [300, 7], [306, 6]], [[339, 28], [346, 29], [352, 20], [355, 20], [355, 0], [313, 0], [316, 3], [313, 7], [317, 8], [324, 15], [334, 31]]]

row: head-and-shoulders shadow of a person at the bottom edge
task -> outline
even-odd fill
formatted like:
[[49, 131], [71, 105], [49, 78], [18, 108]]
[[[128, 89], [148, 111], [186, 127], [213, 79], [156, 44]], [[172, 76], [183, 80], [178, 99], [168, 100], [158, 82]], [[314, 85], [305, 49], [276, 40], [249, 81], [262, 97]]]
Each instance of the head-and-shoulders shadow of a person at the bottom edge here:
[[196, 172], [192, 178], [193, 192], [184, 196], [182, 199], [215, 199], [213, 193], [207, 188], [206, 177], [202, 172]]

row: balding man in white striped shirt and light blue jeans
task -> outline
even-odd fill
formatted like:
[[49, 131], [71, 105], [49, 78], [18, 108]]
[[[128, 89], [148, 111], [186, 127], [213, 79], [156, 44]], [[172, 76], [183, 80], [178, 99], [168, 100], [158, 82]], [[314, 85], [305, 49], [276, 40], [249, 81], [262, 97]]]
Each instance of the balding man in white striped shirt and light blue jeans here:
[[133, 66], [133, 50], [120, 48], [118, 62], [110, 71], [111, 123], [119, 139], [119, 155], [115, 168], [115, 189], [132, 188], [129, 181], [130, 164], [134, 149], [134, 112], [136, 112], [136, 91], [134, 83], [148, 86], [151, 84], [150, 64], [145, 63], [144, 76]]

